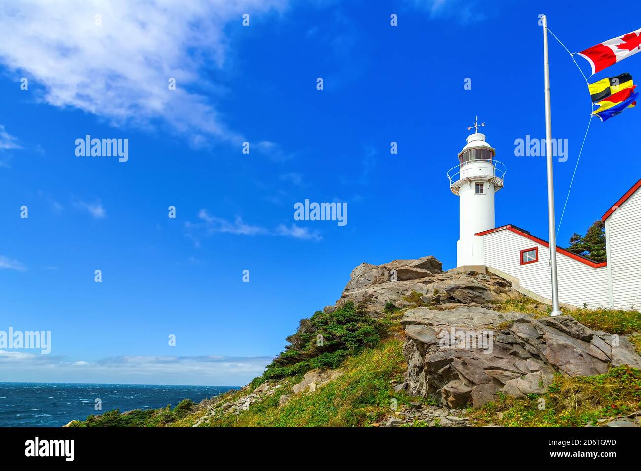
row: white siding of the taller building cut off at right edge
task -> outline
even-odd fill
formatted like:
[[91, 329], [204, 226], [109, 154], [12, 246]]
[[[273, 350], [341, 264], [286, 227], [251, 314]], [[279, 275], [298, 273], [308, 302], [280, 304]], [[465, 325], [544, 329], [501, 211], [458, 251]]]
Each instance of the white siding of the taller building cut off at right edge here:
[[615, 309], [641, 309], [641, 188], [608, 219]]

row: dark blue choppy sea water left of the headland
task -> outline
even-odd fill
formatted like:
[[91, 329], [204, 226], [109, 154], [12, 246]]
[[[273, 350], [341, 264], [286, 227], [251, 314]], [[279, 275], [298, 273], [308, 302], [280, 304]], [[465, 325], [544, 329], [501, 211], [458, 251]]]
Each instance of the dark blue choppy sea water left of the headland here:
[[[233, 386], [158, 384], [0, 383], [0, 427], [62, 427], [112, 409], [173, 408], [183, 399], [200, 402]], [[96, 411], [96, 398], [102, 410]]]

